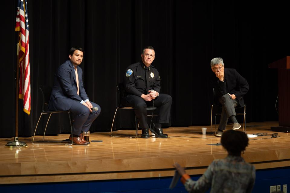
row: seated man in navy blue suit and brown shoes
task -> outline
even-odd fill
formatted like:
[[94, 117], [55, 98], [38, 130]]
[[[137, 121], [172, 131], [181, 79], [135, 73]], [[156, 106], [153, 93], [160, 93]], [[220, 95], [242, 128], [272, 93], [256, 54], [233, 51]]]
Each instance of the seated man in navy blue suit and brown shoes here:
[[[69, 60], [60, 65], [55, 74], [54, 85], [51, 91], [49, 109], [70, 111], [74, 115], [73, 136], [69, 139], [76, 145], [87, 145], [82, 132], [89, 131], [92, 122], [101, 112], [101, 107], [89, 101], [82, 82], [82, 63], [84, 50], [72, 47], [69, 51]], [[97, 107], [97, 110], [92, 110]]]

